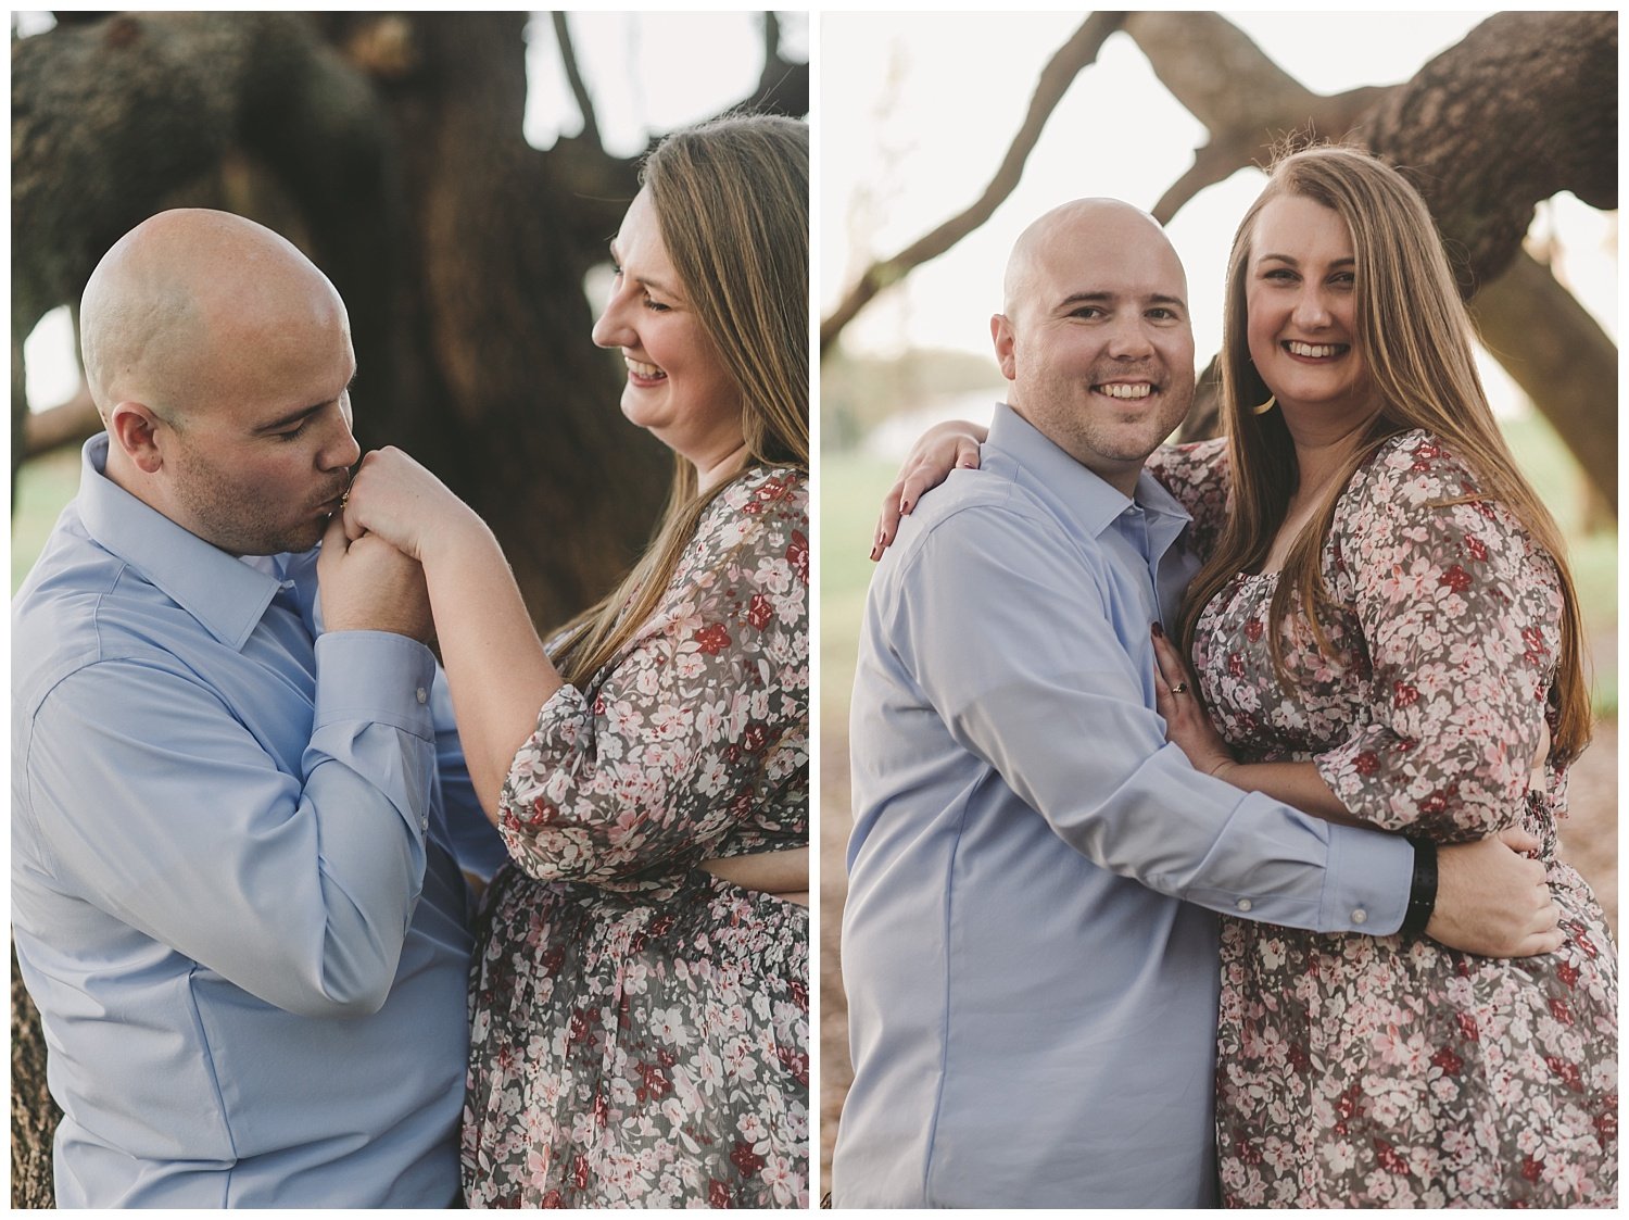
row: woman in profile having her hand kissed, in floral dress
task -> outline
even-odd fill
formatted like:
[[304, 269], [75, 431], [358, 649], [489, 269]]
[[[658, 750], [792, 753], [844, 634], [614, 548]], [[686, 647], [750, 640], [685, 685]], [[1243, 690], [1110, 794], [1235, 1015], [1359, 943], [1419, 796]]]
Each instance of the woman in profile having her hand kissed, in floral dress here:
[[593, 337], [674, 453], [616, 591], [544, 648], [492, 534], [406, 454], [368, 454], [345, 508], [424, 565], [512, 857], [471, 984], [466, 1196], [806, 1205], [808, 914], [771, 893], [808, 888], [805, 124], [670, 135], [611, 252]]

